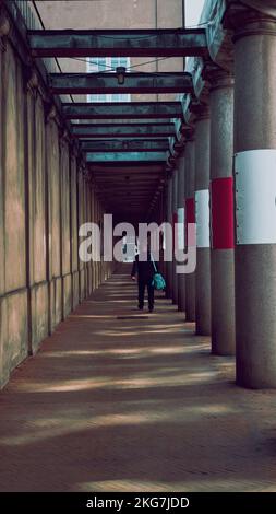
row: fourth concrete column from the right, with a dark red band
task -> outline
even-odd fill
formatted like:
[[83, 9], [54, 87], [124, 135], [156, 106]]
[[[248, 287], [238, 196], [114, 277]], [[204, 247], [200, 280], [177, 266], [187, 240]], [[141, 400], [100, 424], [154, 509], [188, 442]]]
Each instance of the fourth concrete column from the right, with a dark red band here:
[[[191, 137], [185, 144], [185, 224], [195, 223], [194, 214], [194, 155], [195, 142]], [[187, 244], [187, 242], [185, 242]], [[185, 320], [195, 322], [195, 271], [185, 274]]]

